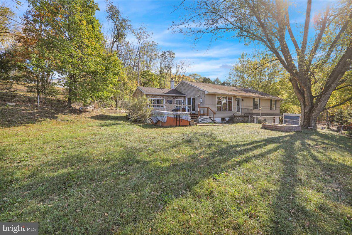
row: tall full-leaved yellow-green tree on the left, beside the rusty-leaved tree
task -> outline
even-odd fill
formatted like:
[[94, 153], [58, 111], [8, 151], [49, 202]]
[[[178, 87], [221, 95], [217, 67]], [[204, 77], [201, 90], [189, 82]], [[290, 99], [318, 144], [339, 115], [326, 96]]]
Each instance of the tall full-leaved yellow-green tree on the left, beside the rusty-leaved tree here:
[[43, 6], [40, 17], [58, 41], [51, 46], [56, 51], [57, 72], [68, 88], [67, 105], [71, 107], [76, 100], [88, 102], [106, 93], [107, 86], [116, 86], [121, 66], [105, 50], [101, 25], [95, 18], [98, 4], [93, 0], [41, 0], [36, 4]]

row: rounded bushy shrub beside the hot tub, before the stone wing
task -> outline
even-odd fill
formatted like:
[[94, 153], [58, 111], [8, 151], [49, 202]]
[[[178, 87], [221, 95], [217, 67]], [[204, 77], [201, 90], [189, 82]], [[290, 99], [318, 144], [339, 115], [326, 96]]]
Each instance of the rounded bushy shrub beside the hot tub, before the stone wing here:
[[128, 118], [134, 122], [144, 121], [150, 117], [150, 112], [152, 108], [148, 107], [150, 101], [145, 95], [139, 97], [138, 99], [132, 98], [127, 106]]

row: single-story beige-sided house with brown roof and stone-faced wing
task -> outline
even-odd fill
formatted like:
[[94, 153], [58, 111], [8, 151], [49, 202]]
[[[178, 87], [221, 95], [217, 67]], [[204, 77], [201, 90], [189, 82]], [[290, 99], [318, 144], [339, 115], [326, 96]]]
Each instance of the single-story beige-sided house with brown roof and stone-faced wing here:
[[[181, 81], [171, 89], [140, 87], [133, 97], [146, 95], [154, 110], [171, 111], [175, 108], [191, 113], [191, 117], [208, 115], [215, 122], [224, 122], [233, 115], [249, 115], [252, 121], [266, 118], [278, 123], [282, 98], [252, 89]], [[214, 117], [214, 118], [213, 118]]]

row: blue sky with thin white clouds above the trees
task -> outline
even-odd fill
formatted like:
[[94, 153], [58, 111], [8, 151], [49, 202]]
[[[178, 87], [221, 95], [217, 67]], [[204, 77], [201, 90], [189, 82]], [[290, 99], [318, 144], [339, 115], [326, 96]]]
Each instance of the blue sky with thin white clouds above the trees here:
[[[96, 17], [107, 29], [105, 1], [95, 0], [99, 4], [100, 11], [96, 12]], [[27, 2], [21, 0], [23, 5], [19, 9], [13, 9], [18, 17], [26, 11]], [[227, 33], [224, 37], [213, 41], [210, 48], [209, 38], [203, 38], [194, 48], [194, 41], [191, 37], [185, 37], [179, 33], [172, 33], [169, 30], [172, 21], [178, 22], [179, 16], [184, 15], [183, 9], [174, 11], [182, 1], [112, 1], [113, 4], [120, 8], [125, 17], [131, 20], [133, 27], [146, 27], [146, 30], [153, 33], [153, 40], [156, 41], [162, 50], [172, 50], [176, 54], [177, 60], [185, 60], [191, 64], [188, 73], [199, 73], [212, 79], [219, 78], [221, 81], [226, 80], [227, 75], [232, 67], [238, 61], [242, 52], [251, 54], [254, 49], [261, 49], [258, 46], [245, 46], [238, 39], [230, 38], [231, 34]], [[331, 1], [313, 1], [312, 16], [319, 11], [323, 11], [326, 5]], [[295, 25], [304, 23], [306, 11], [306, 0], [293, 1], [290, 7], [290, 21]], [[188, 2], [186, 2], [188, 4]], [[10, 4], [13, 5], [13, 4]], [[296, 38], [301, 41], [300, 32], [296, 30]], [[311, 35], [313, 32], [311, 30]]]

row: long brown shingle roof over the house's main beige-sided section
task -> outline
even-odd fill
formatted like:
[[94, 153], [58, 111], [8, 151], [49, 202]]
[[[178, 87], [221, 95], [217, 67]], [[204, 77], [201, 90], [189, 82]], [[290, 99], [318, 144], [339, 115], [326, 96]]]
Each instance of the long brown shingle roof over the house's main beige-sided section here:
[[252, 90], [252, 89], [238, 88], [238, 87], [232, 87], [232, 86], [222, 86], [222, 85], [208, 84], [203, 82], [190, 82], [190, 81], [183, 81], [183, 82], [186, 82], [190, 85], [201, 88], [212, 94], [238, 95], [243, 97], [283, 100], [282, 98], [276, 97], [274, 95], [269, 95], [267, 93]]

